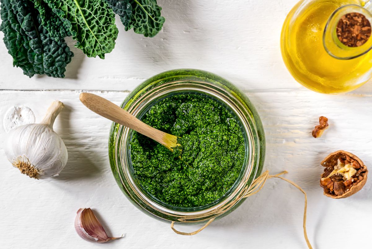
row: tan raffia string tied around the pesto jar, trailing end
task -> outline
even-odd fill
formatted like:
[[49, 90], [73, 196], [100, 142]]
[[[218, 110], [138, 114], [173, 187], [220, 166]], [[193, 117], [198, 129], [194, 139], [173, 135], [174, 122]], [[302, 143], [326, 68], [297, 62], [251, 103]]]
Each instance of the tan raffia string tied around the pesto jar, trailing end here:
[[[276, 175], [269, 175], [269, 171], [265, 171], [261, 176], [257, 177], [251, 184], [250, 187], [247, 187], [246, 191], [242, 191], [242, 193], [244, 193], [244, 196], [242, 198], [247, 198], [249, 196], [252, 196], [254, 194], [257, 194], [264, 186], [264, 184], [266, 183], [266, 180], [269, 179], [269, 178], [280, 178], [290, 184], [292, 184], [293, 186], [295, 186], [297, 189], [299, 189], [304, 195], [305, 195], [305, 208], [304, 208], [304, 224], [303, 224], [303, 227], [304, 227], [304, 237], [305, 237], [305, 240], [306, 240], [306, 243], [307, 243], [307, 246], [309, 249], [312, 249], [312, 246], [310, 244], [310, 241], [307, 237], [307, 233], [306, 233], [306, 210], [307, 210], [307, 195], [305, 193], [305, 191], [303, 189], [301, 189], [300, 186], [298, 186], [296, 183], [294, 183], [293, 181], [291, 180], [288, 180], [286, 178], [283, 178], [281, 177], [280, 175], [283, 175], [283, 174], [287, 174], [288, 172], [287, 171], [283, 171], [282, 173], [279, 173], [279, 174], [276, 174]], [[239, 198], [239, 196], [235, 199], [235, 201], [232, 201], [230, 204], [228, 204], [227, 207], [224, 207], [223, 209], [221, 210], [217, 210], [215, 212], [215, 216], [211, 219], [208, 220], [208, 222], [203, 226], [201, 227], [200, 229], [194, 231], [194, 232], [191, 232], [191, 233], [184, 233], [184, 232], [180, 232], [178, 230], [176, 230], [174, 228], [174, 221], [172, 221], [170, 227], [171, 229], [177, 233], [177, 234], [180, 234], [180, 235], [195, 235], [197, 233], [199, 233], [200, 231], [202, 231], [203, 229], [205, 229], [205, 227], [209, 226], [209, 224], [211, 224], [214, 219], [219, 215], [219, 214], [222, 214], [224, 212], [226, 212], [228, 209], [230, 209], [232, 206], [234, 206], [241, 198]], [[192, 222], [188, 219], [178, 219], [180, 222]]]

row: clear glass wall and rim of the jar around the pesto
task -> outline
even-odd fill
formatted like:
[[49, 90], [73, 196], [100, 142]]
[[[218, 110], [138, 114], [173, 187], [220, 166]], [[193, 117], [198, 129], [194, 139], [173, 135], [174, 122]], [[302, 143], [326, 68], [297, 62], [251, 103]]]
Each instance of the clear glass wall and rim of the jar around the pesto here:
[[[246, 150], [241, 173], [231, 189], [218, 200], [200, 207], [175, 207], [161, 202], [141, 186], [134, 174], [129, 146], [133, 130], [116, 123], [112, 124], [109, 138], [113, 175], [128, 199], [153, 217], [170, 222], [192, 217], [188, 222], [193, 223], [222, 217], [243, 203], [243, 191], [262, 172], [265, 138], [259, 115], [247, 96], [230, 82], [213, 73], [195, 69], [167, 71], [148, 79], [126, 97], [121, 107], [141, 118], [152, 105], [175, 94], [199, 94], [213, 98], [230, 109], [239, 121]], [[236, 204], [229, 205], [234, 200]], [[213, 210], [217, 207], [228, 208], [216, 215]]]

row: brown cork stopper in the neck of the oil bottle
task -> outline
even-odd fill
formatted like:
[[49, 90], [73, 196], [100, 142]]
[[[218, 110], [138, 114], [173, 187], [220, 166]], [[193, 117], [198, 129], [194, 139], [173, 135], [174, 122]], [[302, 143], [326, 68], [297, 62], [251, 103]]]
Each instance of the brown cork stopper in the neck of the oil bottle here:
[[359, 47], [371, 36], [371, 23], [360, 13], [347, 13], [341, 17], [336, 27], [337, 37], [343, 45]]

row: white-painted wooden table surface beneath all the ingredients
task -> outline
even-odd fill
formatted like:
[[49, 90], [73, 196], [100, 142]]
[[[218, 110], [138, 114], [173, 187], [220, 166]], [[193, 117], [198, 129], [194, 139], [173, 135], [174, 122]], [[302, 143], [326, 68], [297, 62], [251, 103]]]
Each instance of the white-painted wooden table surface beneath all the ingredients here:
[[[145, 79], [175, 68], [214, 72], [248, 95], [266, 132], [265, 169], [289, 171], [286, 177], [308, 194], [314, 248], [372, 248], [372, 180], [344, 200], [323, 196], [319, 186], [320, 161], [333, 151], [350, 151], [372, 165], [372, 83], [323, 95], [295, 82], [282, 62], [279, 37], [296, 1], [158, 0], [166, 17], [161, 33], [148, 39], [125, 32], [118, 19], [115, 50], [101, 60], [73, 48], [65, 79], [29, 79], [12, 67], [1, 42], [0, 120], [9, 108], [23, 106], [40, 121], [53, 100], [64, 102], [55, 130], [69, 157], [60, 176], [33, 180], [11, 166], [1, 143], [0, 248], [306, 248], [304, 196], [284, 181], [270, 179], [259, 194], [195, 236], [175, 234], [121, 193], [108, 160], [111, 122], [85, 108], [78, 95], [93, 92], [120, 104]], [[314, 139], [320, 115], [330, 119], [330, 128]], [[0, 141], [4, 135], [0, 125]], [[105, 245], [82, 240], [74, 230], [80, 207], [94, 209], [109, 235], [125, 237]]]

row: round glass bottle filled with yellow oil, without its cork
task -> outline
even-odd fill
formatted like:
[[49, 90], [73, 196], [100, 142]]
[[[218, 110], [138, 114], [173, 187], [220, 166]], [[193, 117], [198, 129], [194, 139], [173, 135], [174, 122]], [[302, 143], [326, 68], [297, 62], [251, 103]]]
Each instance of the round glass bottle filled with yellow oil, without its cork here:
[[361, 13], [372, 23], [371, 1], [301, 0], [283, 24], [281, 50], [292, 76], [302, 85], [322, 93], [352, 91], [372, 77], [372, 39], [348, 47], [336, 34], [337, 23], [347, 13]]

